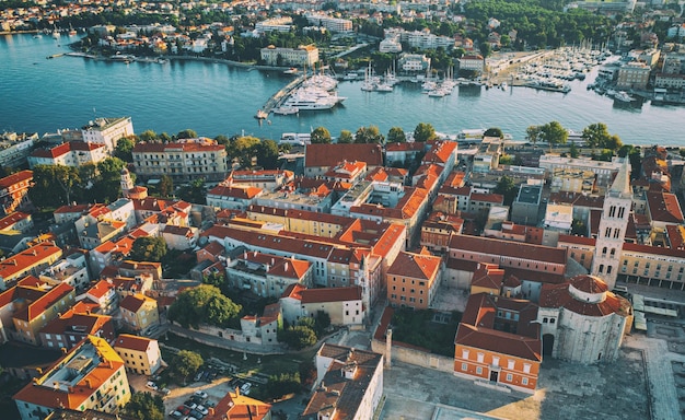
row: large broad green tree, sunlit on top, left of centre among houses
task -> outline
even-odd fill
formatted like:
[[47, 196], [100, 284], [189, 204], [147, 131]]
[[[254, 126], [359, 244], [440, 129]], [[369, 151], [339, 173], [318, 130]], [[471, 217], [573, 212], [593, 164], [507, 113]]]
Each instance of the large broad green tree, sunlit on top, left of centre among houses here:
[[225, 327], [241, 311], [242, 306], [223, 295], [216, 285], [200, 284], [177, 295], [169, 308], [169, 319], [184, 328], [198, 328], [202, 323]]

